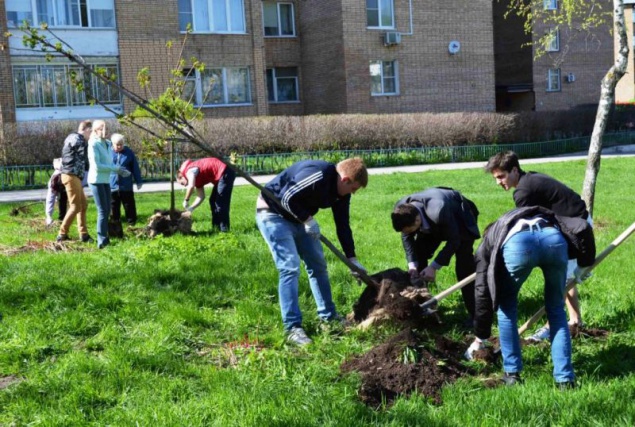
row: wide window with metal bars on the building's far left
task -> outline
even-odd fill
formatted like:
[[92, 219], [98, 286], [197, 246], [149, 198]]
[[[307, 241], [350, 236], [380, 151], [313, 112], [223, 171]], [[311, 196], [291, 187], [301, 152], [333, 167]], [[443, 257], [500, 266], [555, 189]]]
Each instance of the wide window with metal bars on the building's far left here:
[[[89, 64], [91, 68], [106, 68], [113, 69], [117, 72], [117, 77], [119, 78], [119, 65], [116, 63], [91, 63]], [[56, 72], [63, 70], [63, 84], [58, 85], [58, 82], [54, 81]], [[86, 89], [82, 92], [77, 92], [75, 86], [71, 83], [70, 75], [72, 72], [82, 73], [82, 79], [86, 83], [89, 84], [89, 88], [87, 88], [92, 94], [99, 94], [102, 90], [104, 90], [104, 83], [102, 83], [96, 75], [89, 74], [84, 76], [83, 68], [78, 67], [74, 64], [62, 64], [62, 63], [49, 63], [42, 62], [37, 64], [15, 64], [11, 66], [11, 81], [13, 85], [13, 101], [15, 103], [15, 108], [20, 110], [33, 110], [33, 109], [60, 109], [60, 108], [79, 108], [85, 107], [91, 104], [88, 100], [89, 97], [86, 95]], [[26, 72], [30, 72], [32, 79], [29, 80], [26, 78]], [[21, 81], [16, 80], [16, 75], [18, 73], [22, 74], [23, 79]], [[51, 79], [49, 76], [52, 76]], [[90, 78], [87, 81], [87, 78]], [[49, 88], [46, 88], [46, 83], [53, 83]], [[85, 84], [86, 84], [85, 83]], [[31, 86], [30, 90], [25, 90], [25, 99], [33, 99], [35, 102], [30, 102], [24, 104], [21, 100], [18, 99], [18, 87], [28, 87]], [[107, 99], [99, 99], [99, 101], [107, 106], [116, 106], [121, 107], [123, 105], [123, 100], [121, 94], [118, 91], [113, 91], [112, 88], [108, 87], [109, 96]], [[59, 101], [60, 96], [63, 91], [63, 96], [65, 102]], [[47, 105], [47, 94], [51, 94], [52, 102], [50, 105]], [[113, 95], [114, 94], [114, 95]], [[33, 95], [33, 96], [29, 96]]]

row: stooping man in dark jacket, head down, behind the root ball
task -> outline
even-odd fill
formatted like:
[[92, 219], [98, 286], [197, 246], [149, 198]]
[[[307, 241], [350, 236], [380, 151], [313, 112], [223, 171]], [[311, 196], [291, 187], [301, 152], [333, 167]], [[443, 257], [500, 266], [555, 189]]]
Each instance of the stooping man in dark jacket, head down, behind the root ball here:
[[[399, 200], [392, 212], [392, 225], [401, 232], [410, 277], [432, 282], [437, 270], [456, 257], [457, 280], [474, 273], [474, 241], [480, 237], [474, 203], [451, 188], [435, 187]], [[443, 248], [434, 257], [442, 242]], [[463, 302], [474, 317], [474, 285], [461, 289]], [[466, 323], [467, 324], [467, 323]]]

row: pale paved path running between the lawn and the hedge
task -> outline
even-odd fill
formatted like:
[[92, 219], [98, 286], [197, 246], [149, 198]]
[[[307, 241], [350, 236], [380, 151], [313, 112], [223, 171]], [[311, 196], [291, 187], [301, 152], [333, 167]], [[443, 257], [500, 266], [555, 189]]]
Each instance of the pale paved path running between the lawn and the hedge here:
[[[622, 156], [635, 156], [635, 145], [619, 146], [606, 148], [602, 150], [603, 158], [610, 157], [622, 157]], [[552, 163], [552, 162], [566, 162], [570, 160], [585, 160], [586, 153], [579, 153], [574, 155], [565, 155], [552, 158], [539, 158], [539, 159], [521, 159], [521, 164], [531, 163]], [[482, 168], [485, 162], [467, 162], [467, 163], [442, 163], [436, 165], [417, 165], [417, 166], [397, 166], [397, 167], [385, 167], [385, 168], [370, 168], [370, 175], [386, 175], [392, 173], [416, 173], [430, 170], [450, 170], [450, 169], [474, 169]], [[259, 184], [265, 184], [271, 180], [275, 175], [259, 175], [254, 176], [254, 180]], [[249, 183], [244, 178], [236, 178], [234, 185], [248, 185]], [[175, 183], [175, 188], [182, 189], [178, 183]], [[143, 187], [139, 193], [156, 193], [165, 192], [170, 190], [169, 182], [148, 182], [143, 184]], [[85, 188], [86, 195], [92, 197], [90, 188]], [[46, 189], [37, 190], [21, 190], [21, 191], [2, 191], [0, 192], [0, 203], [18, 203], [29, 201], [44, 201], [46, 199]]]

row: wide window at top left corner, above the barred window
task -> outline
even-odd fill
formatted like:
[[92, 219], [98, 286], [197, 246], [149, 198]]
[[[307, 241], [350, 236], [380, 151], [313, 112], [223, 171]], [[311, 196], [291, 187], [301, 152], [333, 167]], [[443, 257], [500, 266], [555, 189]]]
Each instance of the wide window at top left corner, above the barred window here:
[[[115, 0], [106, 0], [112, 3], [111, 9], [97, 9], [91, 7], [90, 0], [61, 0], [65, 6], [64, 11], [59, 11], [59, 0], [44, 0], [48, 6], [51, 7], [51, 11], [43, 11], [38, 8], [38, 0], [22, 0], [22, 5], [27, 5], [29, 11], [21, 11], [22, 13], [30, 14], [30, 18], [25, 18], [29, 21], [30, 25], [35, 25], [34, 23], [46, 22], [51, 28], [59, 28], [59, 29], [86, 29], [86, 28], [95, 28], [95, 29], [116, 29], [117, 28], [117, 18], [115, 15]], [[19, 22], [14, 22], [14, 20], [9, 20], [9, 14], [14, 13], [15, 11], [10, 10], [9, 5], [6, 5], [5, 10], [5, 19], [7, 23], [7, 28], [18, 28], [22, 24], [22, 20]], [[73, 9], [76, 8], [76, 13], [73, 13]], [[112, 26], [97, 26], [93, 24], [93, 13], [94, 11], [111, 11], [112, 12]], [[78, 24], [63, 24], [59, 25], [58, 22], [61, 20], [60, 15], [66, 11], [71, 11], [68, 13], [69, 16], [76, 18], [78, 20]], [[43, 15], [46, 13], [46, 15]], [[43, 19], [44, 18], [44, 19]], [[85, 24], [85, 25], [84, 25]]]

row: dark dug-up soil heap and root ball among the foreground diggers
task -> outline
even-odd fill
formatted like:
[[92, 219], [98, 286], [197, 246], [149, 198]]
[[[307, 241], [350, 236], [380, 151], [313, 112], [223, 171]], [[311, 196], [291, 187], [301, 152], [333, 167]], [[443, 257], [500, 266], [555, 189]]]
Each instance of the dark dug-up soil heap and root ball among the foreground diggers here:
[[362, 327], [392, 321], [406, 328], [368, 353], [345, 361], [342, 372], [362, 374], [360, 398], [374, 408], [415, 391], [441, 403], [443, 385], [470, 372], [461, 363], [465, 343], [434, 332], [439, 318], [424, 316], [420, 307], [430, 294], [425, 287], [412, 286], [407, 272], [391, 269], [372, 278], [379, 288], [367, 287], [350, 317]]

